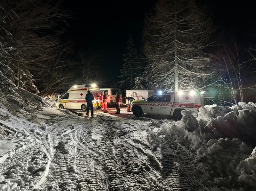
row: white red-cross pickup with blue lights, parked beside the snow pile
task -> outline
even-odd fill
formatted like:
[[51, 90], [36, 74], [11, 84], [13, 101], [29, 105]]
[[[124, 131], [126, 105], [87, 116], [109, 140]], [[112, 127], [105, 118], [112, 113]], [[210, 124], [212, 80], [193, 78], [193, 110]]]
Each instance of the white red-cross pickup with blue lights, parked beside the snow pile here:
[[200, 92], [178, 92], [178, 93], [160, 93], [148, 97], [144, 100], [134, 100], [131, 103], [130, 110], [135, 116], [141, 116], [144, 113], [156, 115], [171, 115], [176, 120], [182, 119], [181, 111], [194, 110], [204, 106], [203, 95]]

